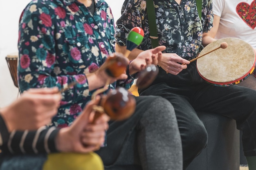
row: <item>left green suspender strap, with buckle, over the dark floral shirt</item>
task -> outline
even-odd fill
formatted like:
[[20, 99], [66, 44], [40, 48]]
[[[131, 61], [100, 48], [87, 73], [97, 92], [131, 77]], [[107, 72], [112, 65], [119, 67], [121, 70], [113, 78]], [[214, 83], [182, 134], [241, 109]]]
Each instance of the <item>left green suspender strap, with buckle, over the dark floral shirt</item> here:
[[150, 40], [152, 48], [159, 46], [157, 36], [157, 24], [155, 20], [155, 7], [153, 0], [146, 0], [147, 14], [148, 14], [148, 26], [150, 32]]

